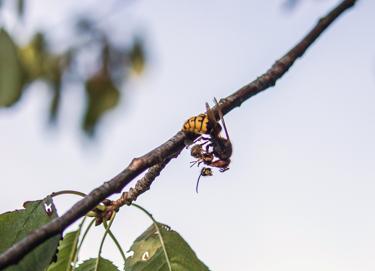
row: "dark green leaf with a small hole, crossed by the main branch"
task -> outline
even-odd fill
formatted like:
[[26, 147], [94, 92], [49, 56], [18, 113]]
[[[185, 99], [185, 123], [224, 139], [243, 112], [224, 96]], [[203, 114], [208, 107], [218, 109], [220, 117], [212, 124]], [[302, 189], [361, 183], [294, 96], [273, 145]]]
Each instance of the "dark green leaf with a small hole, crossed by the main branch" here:
[[[0, 253], [21, 241], [30, 232], [57, 218], [51, 196], [41, 201], [27, 201], [23, 206], [23, 210], [0, 215]], [[29, 252], [17, 265], [11, 265], [5, 270], [43, 270], [54, 257], [60, 239], [61, 234], [49, 238]]]

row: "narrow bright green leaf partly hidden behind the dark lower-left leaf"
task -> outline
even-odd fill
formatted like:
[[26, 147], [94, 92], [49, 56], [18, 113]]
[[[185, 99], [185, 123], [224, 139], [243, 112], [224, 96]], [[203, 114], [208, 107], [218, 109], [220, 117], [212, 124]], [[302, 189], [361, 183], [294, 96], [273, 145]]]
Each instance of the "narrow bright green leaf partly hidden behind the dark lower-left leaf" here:
[[57, 262], [52, 263], [48, 267], [48, 271], [66, 271], [77, 232], [68, 232], [64, 235], [64, 240], [60, 241], [60, 246], [58, 246]]

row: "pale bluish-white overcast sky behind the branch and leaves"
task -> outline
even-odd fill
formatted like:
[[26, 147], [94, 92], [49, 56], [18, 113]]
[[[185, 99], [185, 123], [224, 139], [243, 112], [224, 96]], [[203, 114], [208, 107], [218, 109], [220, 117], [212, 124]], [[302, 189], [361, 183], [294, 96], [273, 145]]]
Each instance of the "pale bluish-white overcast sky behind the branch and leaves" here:
[[[46, 124], [51, 94], [42, 83], [0, 109], [0, 213], [110, 180], [204, 112], [206, 101], [212, 106], [214, 96], [266, 72], [339, 1], [302, 0], [293, 12], [281, 0], [139, 0], [119, 10], [113, 1], [26, 3], [29, 37], [43, 29], [57, 51], [71, 19], [88, 14], [103, 16], [114, 40], [140, 33], [149, 62], [124, 85], [92, 142], [80, 131], [80, 88], [65, 89], [57, 129]], [[137, 199], [210, 270], [375, 269], [374, 10], [375, 1], [358, 0], [275, 87], [225, 116], [234, 148], [229, 171], [201, 178], [196, 194], [200, 169], [189, 168], [194, 159], [184, 150]], [[78, 199], [54, 198], [58, 214]], [[150, 225], [141, 211], [123, 207], [111, 230], [127, 251]], [[97, 257], [103, 232], [90, 231], [81, 260]], [[110, 238], [103, 251], [122, 265]]]

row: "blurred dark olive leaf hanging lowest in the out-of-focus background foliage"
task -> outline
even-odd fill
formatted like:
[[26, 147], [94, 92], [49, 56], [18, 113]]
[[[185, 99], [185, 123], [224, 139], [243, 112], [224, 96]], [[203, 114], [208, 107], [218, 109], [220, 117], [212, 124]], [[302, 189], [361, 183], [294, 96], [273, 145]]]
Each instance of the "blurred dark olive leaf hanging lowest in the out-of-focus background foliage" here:
[[86, 82], [88, 106], [83, 128], [93, 135], [94, 128], [105, 111], [114, 108], [120, 97], [120, 92], [113, 85], [107, 69], [102, 69]]

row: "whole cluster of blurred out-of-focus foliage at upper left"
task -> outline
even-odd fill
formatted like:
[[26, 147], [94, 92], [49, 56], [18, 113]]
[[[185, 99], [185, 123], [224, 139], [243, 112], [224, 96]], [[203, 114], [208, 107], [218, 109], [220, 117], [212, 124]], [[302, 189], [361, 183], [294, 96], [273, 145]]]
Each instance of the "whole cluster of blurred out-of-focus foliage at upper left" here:
[[[18, 15], [24, 13], [24, 1], [18, 1]], [[130, 70], [140, 74], [145, 66], [141, 40], [135, 39], [130, 48], [120, 48], [110, 42], [108, 34], [95, 22], [81, 19], [77, 23], [77, 42], [62, 54], [48, 50], [45, 37], [36, 33], [27, 46], [18, 46], [3, 29], [0, 30], [0, 107], [15, 104], [27, 86], [35, 80], [45, 81], [53, 90], [50, 121], [57, 120], [62, 85], [81, 82], [86, 87], [87, 107], [82, 117], [82, 128], [87, 135], [94, 135], [102, 115], [113, 109], [120, 99], [118, 88]], [[96, 57], [95, 65], [77, 63], [89, 52]], [[84, 60], [85, 61], [85, 60]], [[92, 61], [92, 60], [91, 60]], [[90, 62], [90, 60], [87, 60]], [[87, 69], [96, 67], [92, 72]]]

